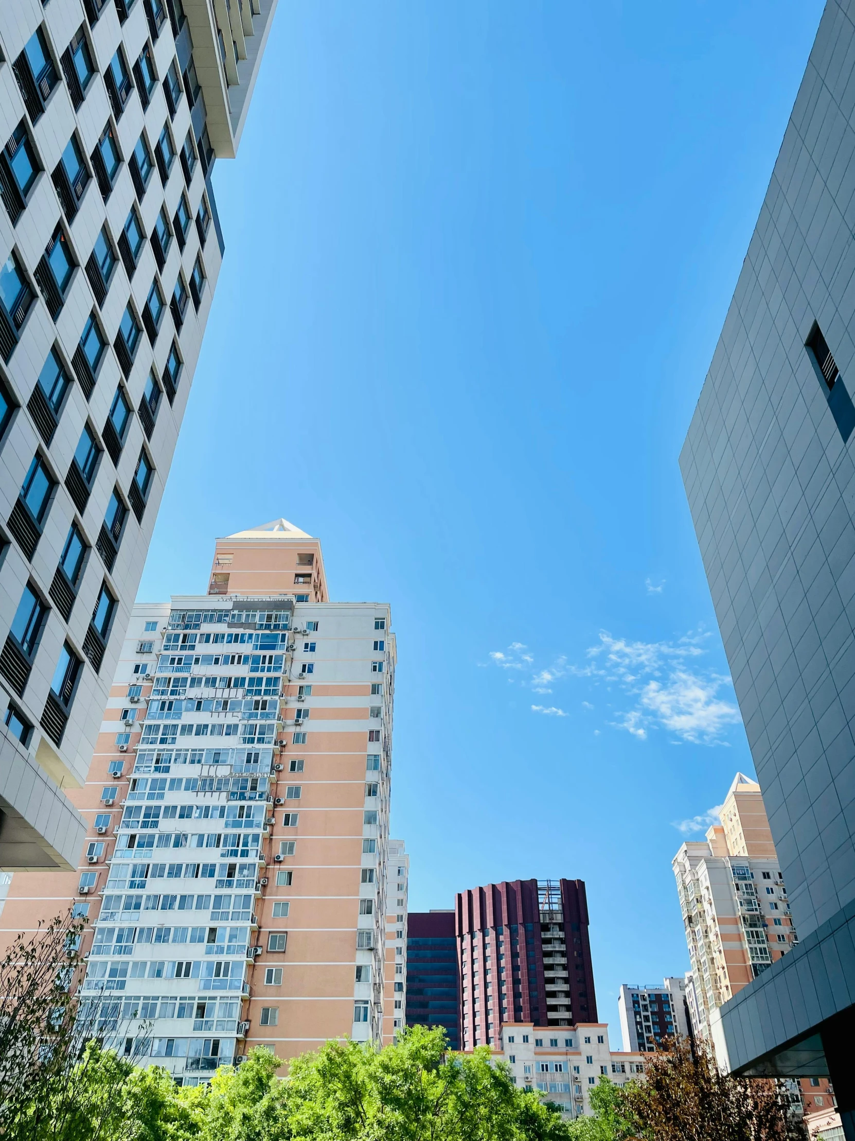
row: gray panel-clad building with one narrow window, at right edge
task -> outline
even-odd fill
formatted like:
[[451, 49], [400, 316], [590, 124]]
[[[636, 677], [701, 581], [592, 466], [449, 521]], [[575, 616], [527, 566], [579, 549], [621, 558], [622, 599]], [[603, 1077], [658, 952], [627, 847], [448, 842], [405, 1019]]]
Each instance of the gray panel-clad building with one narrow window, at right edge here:
[[855, 2], [830, 0], [681, 468], [799, 941], [718, 1013], [855, 1138]]

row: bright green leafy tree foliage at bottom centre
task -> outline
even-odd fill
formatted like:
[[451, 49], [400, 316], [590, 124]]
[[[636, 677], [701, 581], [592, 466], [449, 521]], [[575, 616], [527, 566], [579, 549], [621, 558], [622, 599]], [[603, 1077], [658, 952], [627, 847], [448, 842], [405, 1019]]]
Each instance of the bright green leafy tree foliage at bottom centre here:
[[[178, 1136], [201, 1141], [567, 1141], [568, 1126], [539, 1097], [518, 1090], [489, 1050], [449, 1054], [445, 1033], [415, 1027], [376, 1050], [327, 1042], [280, 1065], [256, 1047], [210, 1086], [178, 1090]], [[179, 1126], [177, 1126], [178, 1130]]]

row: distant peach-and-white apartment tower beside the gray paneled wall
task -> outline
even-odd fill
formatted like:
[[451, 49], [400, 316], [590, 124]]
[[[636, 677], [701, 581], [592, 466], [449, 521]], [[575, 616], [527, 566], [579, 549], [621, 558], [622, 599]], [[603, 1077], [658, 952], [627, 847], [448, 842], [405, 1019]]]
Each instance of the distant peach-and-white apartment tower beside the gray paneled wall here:
[[738, 772], [722, 824], [674, 857], [674, 875], [692, 963], [699, 1022], [711, 1015], [798, 941], [760, 786]]

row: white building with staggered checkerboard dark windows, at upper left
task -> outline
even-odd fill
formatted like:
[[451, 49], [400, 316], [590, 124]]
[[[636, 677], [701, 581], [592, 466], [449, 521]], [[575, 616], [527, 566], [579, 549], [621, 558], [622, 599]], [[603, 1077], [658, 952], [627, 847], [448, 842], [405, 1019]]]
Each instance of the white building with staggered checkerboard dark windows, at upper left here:
[[71, 868], [276, 0], [0, 5], [0, 865]]

